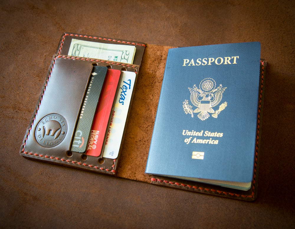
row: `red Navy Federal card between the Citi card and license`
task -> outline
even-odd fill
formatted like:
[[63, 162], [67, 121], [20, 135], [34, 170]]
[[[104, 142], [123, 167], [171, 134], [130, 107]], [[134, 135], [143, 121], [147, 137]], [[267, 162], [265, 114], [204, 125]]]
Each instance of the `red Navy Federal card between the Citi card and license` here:
[[101, 89], [94, 119], [87, 145], [87, 155], [99, 156], [101, 154], [104, 136], [109, 122], [114, 97], [120, 79], [120, 70], [108, 69], [104, 85]]

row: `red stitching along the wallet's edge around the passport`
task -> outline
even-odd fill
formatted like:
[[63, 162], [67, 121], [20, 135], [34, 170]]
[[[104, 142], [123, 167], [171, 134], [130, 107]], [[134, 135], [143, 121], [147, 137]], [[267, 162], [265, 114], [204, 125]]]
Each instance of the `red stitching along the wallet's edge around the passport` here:
[[250, 197], [252, 198], [253, 195], [254, 195], [254, 189], [255, 189], [255, 183], [256, 183], [256, 166], [257, 166], [257, 160], [258, 160], [258, 139], [259, 139], [259, 136], [258, 136], [258, 133], [259, 133], [259, 118], [260, 118], [260, 107], [261, 107], [261, 98], [262, 98], [262, 92], [263, 92], [263, 77], [264, 77], [264, 61], [260, 61], [262, 67], [262, 71], [261, 71], [261, 87], [260, 87], [260, 100], [259, 100], [259, 112], [258, 112], [258, 124], [257, 124], [257, 137], [256, 137], [256, 149], [255, 149], [255, 162], [254, 162], [254, 174], [253, 174], [253, 185], [252, 185], [252, 193], [251, 195], [239, 195], [239, 194], [235, 194], [235, 193], [231, 193], [231, 192], [224, 192], [224, 191], [220, 191], [220, 190], [215, 190], [215, 189], [207, 189], [207, 188], [201, 188], [201, 187], [196, 187], [196, 186], [190, 186], [188, 184], [179, 184], [177, 182], [173, 183], [173, 182], [169, 182], [169, 181], [165, 181], [165, 180], [160, 180], [160, 179], [156, 179], [156, 178], [151, 178], [151, 181], [153, 182], [165, 182], [165, 183], [169, 183], [169, 184], [172, 184], [172, 185], [178, 185], [178, 186], [183, 186], [183, 187], [188, 187], [188, 188], [193, 188], [193, 189], [199, 189], [199, 190], [206, 190], [208, 192], [218, 192], [218, 193], [223, 193], [224, 195], [231, 195], [231, 196], [237, 196], [237, 197]]

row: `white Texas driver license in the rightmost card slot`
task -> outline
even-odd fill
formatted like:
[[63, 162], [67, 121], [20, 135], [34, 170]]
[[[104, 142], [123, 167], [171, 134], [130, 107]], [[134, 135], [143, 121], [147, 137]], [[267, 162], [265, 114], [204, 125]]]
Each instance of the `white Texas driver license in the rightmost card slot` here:
[[116, 96], [114, 110], [106, 131], [103, 157], [115, 159], [118, 157], [119, 149], [124, 133], [127, 113], [134, 88], [134, 72], [122, 72], [120, 88]]

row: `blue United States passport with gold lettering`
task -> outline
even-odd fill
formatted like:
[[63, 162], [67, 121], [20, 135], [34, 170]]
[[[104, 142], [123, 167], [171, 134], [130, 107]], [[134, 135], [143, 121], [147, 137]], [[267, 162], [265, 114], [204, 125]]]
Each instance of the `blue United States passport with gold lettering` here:
[[145, 172], [249, 190], [260, 43], [169, 49]]

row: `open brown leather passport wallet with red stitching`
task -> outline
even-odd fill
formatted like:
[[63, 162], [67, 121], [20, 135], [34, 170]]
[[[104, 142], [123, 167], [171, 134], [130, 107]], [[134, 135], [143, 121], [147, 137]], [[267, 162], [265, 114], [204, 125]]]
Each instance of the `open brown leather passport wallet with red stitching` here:
[[[111, 62], [87, 57], [69, 56], [72, 39], [136, 47], [133, 64]], [[107, 173], [132, 180], [163, 185], [193, 192], [201, 192], [242, 200], [255, 200], [259, 163], [264, 78], [266, 62], [260, 65], [260, 101], [258, 108], [257, 143], [252, 187], [248, 191], [235, 190], [199, 182], [145, 174], [153, 124], [163, 80], [168, 49], [172, 47], [146, 45], [105, 37], [64, 33], [47, 72], [37, 105], [24, 136], [20, 154], [29, 159], [62, 164], [92, 172]], [[81, 104], [93, 66], [106, 66], [136, 74], [123, 140], [116, 159], [72, 152], [71, 143]], [[60, 128], [56, 139], [40, 144], [38, 134], [48, 121]], [[55, 124], [54, 124], [55, 123]], [[51, 126], [51, 128], [54, 128]]]

